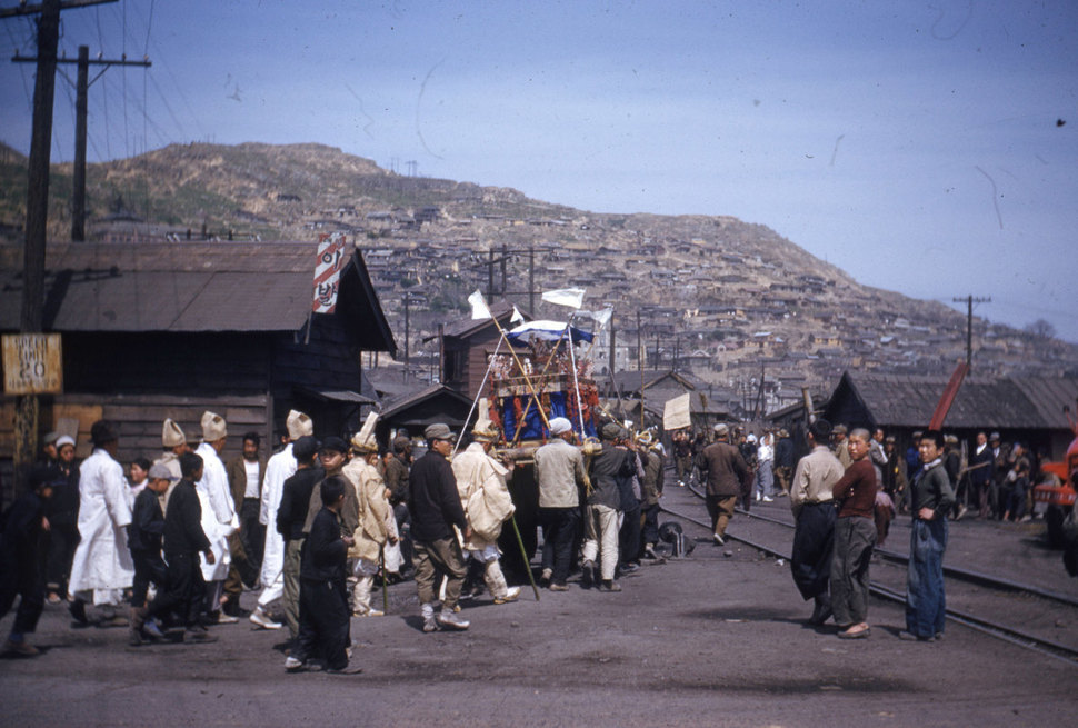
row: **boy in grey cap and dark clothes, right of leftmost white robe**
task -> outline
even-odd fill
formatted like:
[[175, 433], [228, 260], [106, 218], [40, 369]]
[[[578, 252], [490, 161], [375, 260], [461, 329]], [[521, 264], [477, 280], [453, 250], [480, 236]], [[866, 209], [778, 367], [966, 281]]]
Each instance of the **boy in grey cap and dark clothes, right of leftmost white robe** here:
[[176, 476], [168, 467], [158, 463], [149, 468], [146, 489], [134, 498], [131, 525], [128, 527], [128, 548], [131, 550], [131, 561], [134, 562], [134, 582], [131, 588], [130, 644], [132, 647], [142, 644], [142, 632], [158, 639], [163, 636], [154, 622], [146, 624], [146, 594], [151, 581], [157, 586], [158, 591], [164, 589], [164, 577], [168, 570], [164, 559], [161, 558], [164, 515], [161, 512], [161, 501], [158, 496], [164, 495], [176, 480]]

